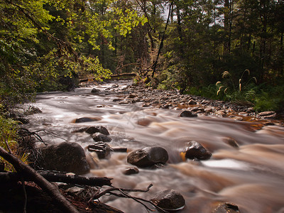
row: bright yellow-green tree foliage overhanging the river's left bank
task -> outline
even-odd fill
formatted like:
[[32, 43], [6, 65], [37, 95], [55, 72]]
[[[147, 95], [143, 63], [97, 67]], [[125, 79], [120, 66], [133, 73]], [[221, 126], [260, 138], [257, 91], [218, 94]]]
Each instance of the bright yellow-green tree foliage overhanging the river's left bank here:
[[100, 53], [106, 46], [114, 51], [114, 36], [126, 37], [146, 22], [119, 1], [4, 0], [0, 16], [0, 95], [6, 107], [26, 94], [60, 89], [66, 77], [108, 78]]

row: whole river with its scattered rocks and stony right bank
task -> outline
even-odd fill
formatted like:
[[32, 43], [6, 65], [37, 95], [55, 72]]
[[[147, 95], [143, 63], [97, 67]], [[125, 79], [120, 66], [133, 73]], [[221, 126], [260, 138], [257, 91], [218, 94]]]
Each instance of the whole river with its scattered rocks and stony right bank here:
[[[283, 207], [283, 121], [273, 111], [258, 114], [131, 81], [38, 94], [35, 107], [42, 113], [28, 116], [25, 128], [49, 145], [78, 143], [90, 167], [84, 175], [113, 178], [115, 187], [128, 189], [153, 185], [131, 195], [166, 204], [165, 209], [169, 195], [173, 200], [182, 195], [170, 208], [182, 213], [266, 213]], [[42, 129], [60, 138], [38, 132]], [[52, 165], [67, 162], [72, 160]], [[100, 201], [126, 213], [147, 212], [131, 200]]]

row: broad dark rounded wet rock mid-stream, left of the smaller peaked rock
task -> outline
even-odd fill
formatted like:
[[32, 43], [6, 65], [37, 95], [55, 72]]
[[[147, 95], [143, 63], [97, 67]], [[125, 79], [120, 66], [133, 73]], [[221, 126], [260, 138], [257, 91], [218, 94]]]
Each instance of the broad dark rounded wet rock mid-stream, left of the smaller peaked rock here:
[[127, 162], [138, 167], [149, 167], [157, 163], [165, 164], [167, 161], [168, 152], [159, 146], [141, 148], [127, 156]]

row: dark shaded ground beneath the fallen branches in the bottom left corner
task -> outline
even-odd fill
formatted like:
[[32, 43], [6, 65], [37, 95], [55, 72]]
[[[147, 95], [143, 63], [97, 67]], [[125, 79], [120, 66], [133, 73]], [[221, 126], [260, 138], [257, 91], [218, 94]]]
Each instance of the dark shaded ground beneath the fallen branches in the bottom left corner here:
[[[53, 212], [62, 213], [50, 195], [45, 193], [33, 182], [25, 182], [25, 189], [21, 182], [1, 182], [0, 212]], [[82, 213], [121, 213], [120, 210], [109, 207], [102, 202], [88, 203], [87, 200], [60, 190], [79, 212]], [[25, 204], [26, 202], [26, 204]]]

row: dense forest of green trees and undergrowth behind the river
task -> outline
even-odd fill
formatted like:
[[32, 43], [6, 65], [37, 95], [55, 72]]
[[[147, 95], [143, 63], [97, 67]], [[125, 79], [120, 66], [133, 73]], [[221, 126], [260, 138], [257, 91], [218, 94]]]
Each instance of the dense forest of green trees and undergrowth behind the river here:
[[283, 0], [3, 0], [1, 105], [136, 72], [178, 89], [283, 110]]

